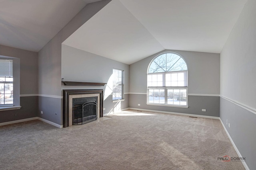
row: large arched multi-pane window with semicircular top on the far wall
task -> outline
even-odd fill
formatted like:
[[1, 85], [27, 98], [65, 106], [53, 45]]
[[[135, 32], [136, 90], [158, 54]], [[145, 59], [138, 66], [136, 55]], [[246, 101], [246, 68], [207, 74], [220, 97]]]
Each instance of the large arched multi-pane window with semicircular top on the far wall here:
[[187, 106], [188, 68], [180, 55], [164, 53], [148, 67], [148, 104]]

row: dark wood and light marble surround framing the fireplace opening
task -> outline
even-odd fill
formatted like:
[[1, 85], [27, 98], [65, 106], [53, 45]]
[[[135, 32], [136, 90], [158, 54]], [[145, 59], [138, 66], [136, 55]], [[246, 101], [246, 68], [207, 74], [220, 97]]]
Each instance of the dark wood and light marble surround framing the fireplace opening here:
[[72, 99], [98, 97], [98, 117], [103, 117], [103, 89], [63, 90], [63, 127], [72, 126]]

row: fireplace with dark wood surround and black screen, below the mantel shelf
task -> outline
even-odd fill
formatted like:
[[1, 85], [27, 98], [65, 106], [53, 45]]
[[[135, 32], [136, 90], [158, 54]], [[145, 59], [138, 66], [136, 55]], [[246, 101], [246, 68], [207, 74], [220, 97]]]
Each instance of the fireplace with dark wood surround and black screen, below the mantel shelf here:
[[63, 90], [63, 127], [103, 116], [103, 90]]

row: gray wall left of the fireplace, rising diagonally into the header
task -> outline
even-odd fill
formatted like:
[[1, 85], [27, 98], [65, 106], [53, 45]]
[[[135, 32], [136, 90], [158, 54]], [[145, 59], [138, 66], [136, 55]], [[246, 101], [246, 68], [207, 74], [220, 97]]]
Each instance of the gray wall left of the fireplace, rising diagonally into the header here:
[[[38, 117], [62, 125], [62, 91], [61, 91], [61, 54], [62, 42], [67, 39], [81, 25], [101, 10], [111, 0], [102, 0], [87, 4], [65, 27], [63, 27], [38, 53]], [[47, 97], [45, 97], [47, 96]], [[52, 100], [51, 105], [44, 100]], [[56, 106], [43, 111], [43, 108]], [[57, 113], [57, 115], [55, 114]]]

